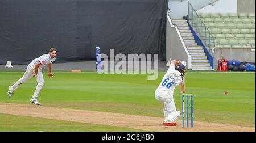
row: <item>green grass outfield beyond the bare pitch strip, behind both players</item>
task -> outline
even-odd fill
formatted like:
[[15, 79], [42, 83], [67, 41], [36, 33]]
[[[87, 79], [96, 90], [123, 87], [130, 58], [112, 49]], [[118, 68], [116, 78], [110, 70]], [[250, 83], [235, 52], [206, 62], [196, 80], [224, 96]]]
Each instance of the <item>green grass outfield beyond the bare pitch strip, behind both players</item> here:
[[[0, 102], [31, 104], [35, 78], [14, 91], [13, 98], [6, 95], [7, 87], [22, 75], [0, 73]], [[147, 74], [55, 73], [53, 79], [48, 79], [44, 73], [45, 85], [38, 99], [44, 106], [163, 117], [163, 106], [154, 97], [163, 75], [159, 73], [157, 80], [147, 81]], [[189, 72], [185, 75], [185, 86], [194, 95], [196, 121], [255, 127], [255, 73]], [[181, 110], [179, 87], [175, 89], [174, 100], [177, 110]], [[0, 118], [4, 116], [7, 115]], [[0, 128], [3, 123], [6, 122], [0, 120]], [[58, 124], [61, 123], [64, 121]]]

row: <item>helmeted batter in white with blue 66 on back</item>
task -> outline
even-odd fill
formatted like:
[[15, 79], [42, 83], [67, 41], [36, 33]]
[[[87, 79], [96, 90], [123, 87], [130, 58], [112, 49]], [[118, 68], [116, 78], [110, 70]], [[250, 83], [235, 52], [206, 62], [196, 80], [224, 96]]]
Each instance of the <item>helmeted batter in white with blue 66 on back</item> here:
[[180, 111], [176, 111], [174, 102], [174, 89], [183, 81], [185, 66], [180, 61], [172, 60], [171, 64], [164, 74], [164, 77], [155, 90], [155, 98], [164, 104], [164, 123], [167, 126], [176, 126], [174, 123], [180, 116]]

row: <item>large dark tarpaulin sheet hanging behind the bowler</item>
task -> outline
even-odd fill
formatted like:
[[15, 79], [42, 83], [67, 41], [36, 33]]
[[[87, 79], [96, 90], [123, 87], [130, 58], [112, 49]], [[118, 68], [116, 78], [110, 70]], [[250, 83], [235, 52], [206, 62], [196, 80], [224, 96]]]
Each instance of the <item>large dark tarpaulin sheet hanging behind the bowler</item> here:
[[1, 0], [0, 64], [27, 64], [58, 49], [56, 61], [101, 53], [166, 56], [167, 0]]

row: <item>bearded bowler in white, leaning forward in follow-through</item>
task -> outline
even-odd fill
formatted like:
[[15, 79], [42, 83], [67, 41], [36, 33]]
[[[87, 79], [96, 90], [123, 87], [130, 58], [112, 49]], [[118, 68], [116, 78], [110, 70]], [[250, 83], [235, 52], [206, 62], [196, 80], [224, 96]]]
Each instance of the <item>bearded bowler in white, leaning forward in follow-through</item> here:
[[36, 90], [34, 94], [32, 95], [32, 98], [30, 101], [32, 103], [35, 103], [36, 105], [40, 105], [38, 102], [38, 94], [41, 91], [43, 85], [44, 85], [44, 77], [43, 77], [43, 71], [42, 68], [45, 65], [48, 65], [48, 77], [52, 78], [53, 74], [51, 72], [52, 70], [52, 62], [56, 60], [56, 54], [57, 54], [57, 49], [56, 48], [51, 48], [49, 50], [48, 54], [43, 54], [39, 58], [35, 58], [30, 64], [27, 66], [27, 70], [24, 73], [23, 77], [20, 78], [17, 82], [14, 83], [13, 86], [9, 86], [9, 90], [7, 92], [8, 96], [11, 98], [13, 95], [13, 91], [16, 90], [19, 85], [22, 83], [28, 81], [31, 77], [35, 77], [36, 81], [38, 82], [38, 85], [36, 86]]

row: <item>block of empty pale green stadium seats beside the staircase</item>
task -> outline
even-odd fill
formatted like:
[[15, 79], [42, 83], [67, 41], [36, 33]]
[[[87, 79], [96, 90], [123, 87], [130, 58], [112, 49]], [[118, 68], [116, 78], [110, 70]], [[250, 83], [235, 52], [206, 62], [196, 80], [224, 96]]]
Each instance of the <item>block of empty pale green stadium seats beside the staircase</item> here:
[[251, 48], [250, 42], [255, 48], [255, 14], [205, 13], [201, 18], [214, 36], [217, 48]]

